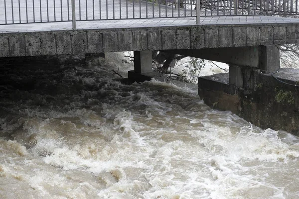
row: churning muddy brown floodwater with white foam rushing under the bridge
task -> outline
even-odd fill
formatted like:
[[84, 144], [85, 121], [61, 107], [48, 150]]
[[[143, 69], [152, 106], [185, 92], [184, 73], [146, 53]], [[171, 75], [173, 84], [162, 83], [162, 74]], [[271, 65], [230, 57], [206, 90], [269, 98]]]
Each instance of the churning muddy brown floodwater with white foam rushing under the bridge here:
[[1, 199], [299, 198], [297, 137], [113, 69], [1, 69]]

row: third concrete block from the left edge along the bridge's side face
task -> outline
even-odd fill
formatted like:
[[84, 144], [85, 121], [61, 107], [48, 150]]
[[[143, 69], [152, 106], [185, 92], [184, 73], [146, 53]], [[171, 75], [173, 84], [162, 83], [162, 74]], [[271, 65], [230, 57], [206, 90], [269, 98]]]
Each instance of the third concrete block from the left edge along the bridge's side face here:
[[40, 39], [38, 35], [25, 35], [26, 56], [37, 56], [41, 54]]

